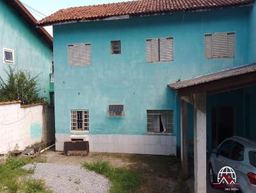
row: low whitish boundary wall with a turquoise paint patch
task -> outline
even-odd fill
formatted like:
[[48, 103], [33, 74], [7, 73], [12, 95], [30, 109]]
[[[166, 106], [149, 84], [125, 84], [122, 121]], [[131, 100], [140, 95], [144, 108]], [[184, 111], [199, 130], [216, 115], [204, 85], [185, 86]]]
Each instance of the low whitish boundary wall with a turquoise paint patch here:
[[44, 105], [0, 104], [0, 154], [35, 143], [54, 143], [54, 109]]

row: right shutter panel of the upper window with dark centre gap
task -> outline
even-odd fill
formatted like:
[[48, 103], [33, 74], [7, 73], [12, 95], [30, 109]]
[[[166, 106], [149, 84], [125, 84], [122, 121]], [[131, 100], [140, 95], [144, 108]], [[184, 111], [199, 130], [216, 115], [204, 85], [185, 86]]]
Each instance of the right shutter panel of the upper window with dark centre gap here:
[[173, 61], [173, 38], [160, 38], [160, 61]]

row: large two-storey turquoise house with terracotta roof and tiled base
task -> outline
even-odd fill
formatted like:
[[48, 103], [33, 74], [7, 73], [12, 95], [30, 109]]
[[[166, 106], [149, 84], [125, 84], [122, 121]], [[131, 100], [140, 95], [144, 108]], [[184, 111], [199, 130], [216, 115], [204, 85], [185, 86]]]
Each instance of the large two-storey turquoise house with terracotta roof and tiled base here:
[[[180, 98], [168, 84], [256, 61], [254, 1], [184, 2], [68, 8], [38, 22], [54, 31], [56, 150], [82, 138], [90, 151], [176, 154]], [[221, 113], [230, 118], [216, 132], [256, 138], [255, 96], [255, 86], [207, 96], [210, 149], [222, 140], [211, 133]]]

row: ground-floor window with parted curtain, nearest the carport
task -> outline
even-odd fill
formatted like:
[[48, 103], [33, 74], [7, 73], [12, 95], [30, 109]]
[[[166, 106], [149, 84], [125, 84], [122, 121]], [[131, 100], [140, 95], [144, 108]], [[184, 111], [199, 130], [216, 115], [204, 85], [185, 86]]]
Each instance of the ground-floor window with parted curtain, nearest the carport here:
[[147, 132], [173, 133], [173, 111], [147, 110]]

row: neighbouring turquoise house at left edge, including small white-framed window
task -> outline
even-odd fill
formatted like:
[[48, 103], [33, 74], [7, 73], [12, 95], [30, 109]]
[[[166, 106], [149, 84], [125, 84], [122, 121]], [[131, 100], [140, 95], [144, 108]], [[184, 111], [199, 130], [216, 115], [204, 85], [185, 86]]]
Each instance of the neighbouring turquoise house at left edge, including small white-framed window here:
[[8, 66], [28, 70], [38, 77], [40, 95], [53, 102], [52, 37], [36, 22], [20, 1], [0, 0], [0, 75]]

